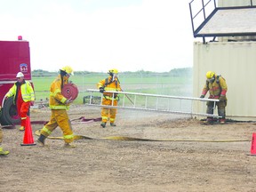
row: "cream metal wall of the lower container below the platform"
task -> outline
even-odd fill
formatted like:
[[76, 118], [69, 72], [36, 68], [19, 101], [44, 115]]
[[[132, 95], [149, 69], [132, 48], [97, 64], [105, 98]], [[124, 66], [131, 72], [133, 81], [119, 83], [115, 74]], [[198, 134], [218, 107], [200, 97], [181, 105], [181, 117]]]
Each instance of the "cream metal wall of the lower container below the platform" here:
[[[194, 97], [200, 96], [209, 70], [227, 81], [227, 117], [256, 120], [256, 42], [195, 42]], [[195, 104], [196, 112], [205, 108], [201, 104]]]

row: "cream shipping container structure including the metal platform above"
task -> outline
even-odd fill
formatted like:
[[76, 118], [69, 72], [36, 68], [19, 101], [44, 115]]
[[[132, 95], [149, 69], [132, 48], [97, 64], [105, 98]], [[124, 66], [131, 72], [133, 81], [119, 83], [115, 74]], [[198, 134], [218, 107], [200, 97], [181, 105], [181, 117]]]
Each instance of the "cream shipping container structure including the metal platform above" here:
[[[226, 117], [234, 120], [256, 120], [255, 14], [256, 0], [219, 0], [201, 25], [203, 42], [194, 42], [193, 95], [201, 95], [207, 71], [224, 77], [228, 84]], [[205, 41], [205, 36], [212, 40]], [[196, 112], [206, 111], [205, 102], [193, 107]]]

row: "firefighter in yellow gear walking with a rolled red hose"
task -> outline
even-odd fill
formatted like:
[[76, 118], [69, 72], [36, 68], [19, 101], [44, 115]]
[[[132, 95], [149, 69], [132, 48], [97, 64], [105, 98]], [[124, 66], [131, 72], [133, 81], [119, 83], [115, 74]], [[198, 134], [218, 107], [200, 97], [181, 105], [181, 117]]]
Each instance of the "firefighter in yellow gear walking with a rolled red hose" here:
[[69, 66], [60, 69], [60, 75], [52, 82], [50, 88], [50, 100], [49, 107], [52, 109], [52, 116], [48, 124], [45, 124], [40, 132], [40, 136], [37, 142], [44, 146], [44, 140], [57, 128], [60, 126], [64, 137], [64, 147], [73, 148], [74, 145], [70, 143], [74, 140], [74, 134], [72, 132], [71, 124], [68, 119], [67, 110], [69, 109], [69, 104], [73, 101], [71, 99], [65, 98], [61, 94], [61, 89], [64, 84], [68, 84], [69, 76], [73, 75], [73, 69]]

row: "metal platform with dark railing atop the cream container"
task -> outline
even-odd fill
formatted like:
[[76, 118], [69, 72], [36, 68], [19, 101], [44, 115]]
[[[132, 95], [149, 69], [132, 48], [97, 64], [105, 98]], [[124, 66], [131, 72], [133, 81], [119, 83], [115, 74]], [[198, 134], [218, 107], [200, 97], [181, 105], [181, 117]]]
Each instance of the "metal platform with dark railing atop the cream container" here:
[[[256, 36], [256, 6], [216, 7], [215, 0], [209, 0], [199, 12], [193, 12], [193, 4], [189, 3], [190, 17], [194, 37], [216, 36]], [[209, 9], [210, 8], [210, 9]], [[212, 10], [211, 10], [212, 8]], [[207, 12], [211, 12], [207, 14]], [[203, 20], [196, 27], [196, 19], [201, 16]]]

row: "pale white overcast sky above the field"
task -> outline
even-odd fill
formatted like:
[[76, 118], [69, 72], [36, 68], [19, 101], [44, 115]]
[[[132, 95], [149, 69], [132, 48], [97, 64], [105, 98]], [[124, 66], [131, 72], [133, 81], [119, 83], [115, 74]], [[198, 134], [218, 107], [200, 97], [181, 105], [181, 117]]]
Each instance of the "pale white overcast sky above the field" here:
[[187, 0], [0, 0], [0, 40], [23, 36], [32, 69], [170, 71], [193, 65]]

